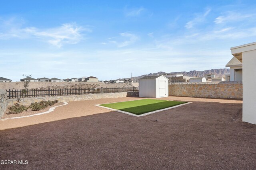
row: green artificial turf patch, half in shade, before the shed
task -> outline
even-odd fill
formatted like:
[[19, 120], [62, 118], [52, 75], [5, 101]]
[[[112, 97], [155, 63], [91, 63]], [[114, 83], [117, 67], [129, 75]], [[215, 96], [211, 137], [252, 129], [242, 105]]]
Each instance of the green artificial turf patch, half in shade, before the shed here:
[[128, 102], [118, 102], [111, 104], [101, 104], [100, 106], [109, 107], [112, 109], [122, 110], [136, 115], [165, 109], [172, 106], [184, 104], [186, 102], [176, 102], [169, 100], [142, 99]]

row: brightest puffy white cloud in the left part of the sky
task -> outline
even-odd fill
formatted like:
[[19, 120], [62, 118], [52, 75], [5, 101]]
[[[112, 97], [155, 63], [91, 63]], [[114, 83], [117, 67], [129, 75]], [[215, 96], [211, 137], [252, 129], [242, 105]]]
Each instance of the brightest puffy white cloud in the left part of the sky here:
[[77, 26], [75, 23], [66, 23], [60, 27], [40, 30], [35, 27], [23, 29], [26, 33], [46, 40], [51, 45], [62, 47], [64, 44], [76, 44], [82, 39], [82, 32], [91, 32], [89, 28]]

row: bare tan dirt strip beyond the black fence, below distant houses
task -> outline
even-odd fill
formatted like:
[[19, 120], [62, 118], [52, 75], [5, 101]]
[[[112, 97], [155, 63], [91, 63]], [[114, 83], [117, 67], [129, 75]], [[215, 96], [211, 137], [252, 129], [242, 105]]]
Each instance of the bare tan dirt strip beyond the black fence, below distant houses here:
[[[24, 82], [0, 82], [0, 89], [23, 89]], [[44, 88], [129, 88], [138, 87], [138, 83], [113, 83], [105, 84], [101, 82], [30, 82], [28, 89]]]

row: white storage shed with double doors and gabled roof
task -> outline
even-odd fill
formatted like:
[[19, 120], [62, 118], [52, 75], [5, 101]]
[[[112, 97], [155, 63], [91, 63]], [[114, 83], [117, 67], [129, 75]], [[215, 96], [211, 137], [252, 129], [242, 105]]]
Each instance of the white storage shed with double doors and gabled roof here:
[[139, 96], [144, 98], [168, 97], [169, 79], [165, 76], [145, 76], [139, 80]]

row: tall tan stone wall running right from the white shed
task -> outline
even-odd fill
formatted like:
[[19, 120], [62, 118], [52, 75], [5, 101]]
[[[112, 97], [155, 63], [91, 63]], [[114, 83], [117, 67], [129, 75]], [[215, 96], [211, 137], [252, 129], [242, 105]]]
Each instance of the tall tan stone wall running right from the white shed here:
[[242, 99], [243, 84], [242, 82], [170, 83], [169, 96]]

